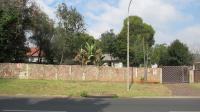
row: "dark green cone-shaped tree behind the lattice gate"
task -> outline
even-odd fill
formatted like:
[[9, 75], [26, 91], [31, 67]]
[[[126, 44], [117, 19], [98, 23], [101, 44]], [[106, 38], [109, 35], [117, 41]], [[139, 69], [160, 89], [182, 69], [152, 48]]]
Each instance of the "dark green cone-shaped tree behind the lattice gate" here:
[[167, 65], [182, 66], [191, 65], [193, 62], [192, 54], [189, 52], [187, 45], [175, 40], [168, 48], [169, 59]]

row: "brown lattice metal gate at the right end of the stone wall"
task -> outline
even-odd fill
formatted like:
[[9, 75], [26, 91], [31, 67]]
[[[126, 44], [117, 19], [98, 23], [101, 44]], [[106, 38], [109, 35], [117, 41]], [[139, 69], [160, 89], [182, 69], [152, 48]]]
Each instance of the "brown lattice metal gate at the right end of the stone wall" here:
[[162, 68], [163, 83], [189, 83], [187, 66], [164, 66]]

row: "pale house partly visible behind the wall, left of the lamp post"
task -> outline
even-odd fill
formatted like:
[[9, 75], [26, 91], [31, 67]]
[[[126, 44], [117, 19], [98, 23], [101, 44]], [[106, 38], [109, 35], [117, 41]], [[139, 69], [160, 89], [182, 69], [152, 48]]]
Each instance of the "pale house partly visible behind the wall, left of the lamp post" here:
[[123, 67], [123, 63], [115, 57], [112, 57], [110, 54], [104, 54], [104, 66], [111, 66], [111, 67], [116, 67], [116, 68], [120, 68]]

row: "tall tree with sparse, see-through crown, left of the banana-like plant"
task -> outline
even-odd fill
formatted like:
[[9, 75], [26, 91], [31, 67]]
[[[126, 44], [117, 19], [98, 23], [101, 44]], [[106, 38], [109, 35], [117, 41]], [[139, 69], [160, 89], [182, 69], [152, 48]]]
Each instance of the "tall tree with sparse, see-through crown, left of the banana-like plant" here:
[[68, 8], [65, 3], [58, 5], [57, 17], [59, 19], [59, 28], [57, 28], [55, 38], [60, 38], [61, 41], [55, 41], [54, 43], [57, 45], [60, 43], [56, 42], [62, 43], [60, 47], [57, 47], [58, 51], [61, 51], [59, 60], [60, 64], [62, 64], [64, 60], [72, 60], [75, 56], [75, 51], [77, 50], [77, 47], [74, 47], [77, 46], [75, 43], [77, 41], [76, 37], [85, 31], [85, 24], [83, 16], [75, 8]]

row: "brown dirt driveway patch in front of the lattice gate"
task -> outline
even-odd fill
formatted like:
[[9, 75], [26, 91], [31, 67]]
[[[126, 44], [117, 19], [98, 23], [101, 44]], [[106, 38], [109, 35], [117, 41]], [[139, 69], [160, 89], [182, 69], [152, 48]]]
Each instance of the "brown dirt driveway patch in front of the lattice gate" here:
[[200, 90], [189, 84], [165, 84], [173, 96], [200, 96]]

